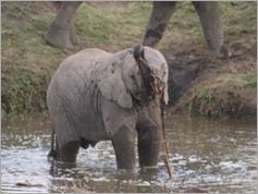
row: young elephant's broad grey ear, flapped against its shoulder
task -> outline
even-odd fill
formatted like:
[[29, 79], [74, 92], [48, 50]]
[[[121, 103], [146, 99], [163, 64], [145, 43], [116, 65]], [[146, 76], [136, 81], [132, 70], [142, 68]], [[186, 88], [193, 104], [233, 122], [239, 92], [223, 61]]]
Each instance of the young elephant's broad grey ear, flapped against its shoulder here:
[[133, 99], [122, 78], [122, 60], [115, 56], [102, 64], [98, 87], [105, 98], [118, 102], [122, 108], [132, 108]]

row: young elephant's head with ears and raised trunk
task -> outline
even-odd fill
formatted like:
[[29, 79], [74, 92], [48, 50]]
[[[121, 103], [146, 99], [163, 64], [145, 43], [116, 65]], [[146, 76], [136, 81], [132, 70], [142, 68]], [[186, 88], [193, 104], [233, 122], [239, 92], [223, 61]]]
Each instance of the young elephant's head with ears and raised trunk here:
[[157, 50], [136, 45], [133, 49], [116, 52], [108, 66], [100, 90], [105, 97], [123, 108], [132, 108], [163, 97], [168, 104], [168, 64]]

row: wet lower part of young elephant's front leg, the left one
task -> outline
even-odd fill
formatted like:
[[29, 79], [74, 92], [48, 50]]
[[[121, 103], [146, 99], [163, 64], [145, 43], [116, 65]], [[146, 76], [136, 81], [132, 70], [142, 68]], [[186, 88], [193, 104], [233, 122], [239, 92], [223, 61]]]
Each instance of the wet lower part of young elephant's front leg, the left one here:
[[123, 125], [112, 136], [119, 169], [135, 168], [135, 130]]

